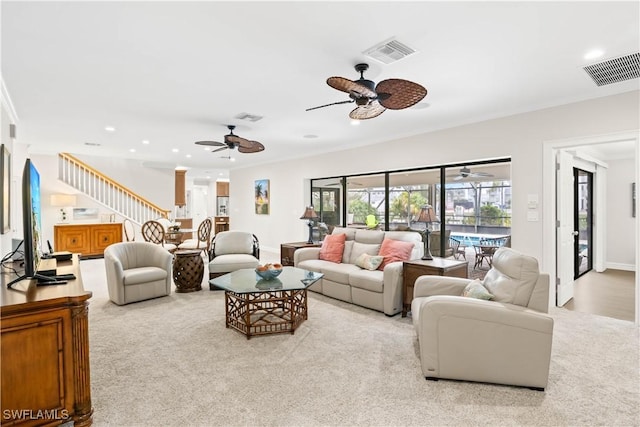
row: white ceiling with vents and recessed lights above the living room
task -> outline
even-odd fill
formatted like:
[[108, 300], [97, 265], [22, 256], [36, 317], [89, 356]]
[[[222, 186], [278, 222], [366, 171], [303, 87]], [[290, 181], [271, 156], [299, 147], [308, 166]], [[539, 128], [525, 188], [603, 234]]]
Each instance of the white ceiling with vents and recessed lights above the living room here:
[[[640, 50], [638, 1], [3, 0], [0, 7], [2, 77], [18, 142], [34, 153], [185, 166], [194, 178], [640, 88], [638, 79], [597, 87], [582, 69]], [[362, 54], [392, 37], [417, 53], [389, 65]], [[596, 48], [604, 55], [585, 60]], [[353, 104], [305, 111], [347, 100], [325, 82], [356, 80], [359, 62], [370, 64], [370, 80], [407, 79], [429, 93], [419, 108], [388, 110], [359, 126], [348, 118]], [[234, 118], [243, 112], [264, 118]], [[222, 141], [227, 124], [266, 150], [234, 151], [230, 162], [194, 144]]]

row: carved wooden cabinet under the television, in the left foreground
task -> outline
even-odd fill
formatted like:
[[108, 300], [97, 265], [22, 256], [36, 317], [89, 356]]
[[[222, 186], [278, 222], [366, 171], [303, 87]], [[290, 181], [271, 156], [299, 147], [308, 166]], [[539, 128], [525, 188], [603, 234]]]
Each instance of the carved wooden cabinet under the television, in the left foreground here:
[[15, 275], [0, 280], [2, 425], [77, 426], [93, 422], [89, 374], [88, 300], [78, 256], [58, 262], [58, 274], [73, 273], [66, 285], [36, 286]]

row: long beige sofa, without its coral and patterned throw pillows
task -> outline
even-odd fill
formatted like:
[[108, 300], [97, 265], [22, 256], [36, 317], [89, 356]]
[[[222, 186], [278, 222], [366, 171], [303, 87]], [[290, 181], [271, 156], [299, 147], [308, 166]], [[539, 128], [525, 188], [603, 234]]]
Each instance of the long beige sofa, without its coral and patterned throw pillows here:
[[424, 246], [420, 233], [336, 227], [331, 234], [340, 233], [346, 234], [342, 263], [319, 259], [320, 248], [294, 252], [296, 267], [324, 274], [309, 289], [389, 316], [402, 311], [402, 262], [387, 264], [382, 271], [370, 271], [356, 266], [355, 260], [363, 252], [376, 255], [383, 239], [412, 242], [410, 259], [421, 258]]

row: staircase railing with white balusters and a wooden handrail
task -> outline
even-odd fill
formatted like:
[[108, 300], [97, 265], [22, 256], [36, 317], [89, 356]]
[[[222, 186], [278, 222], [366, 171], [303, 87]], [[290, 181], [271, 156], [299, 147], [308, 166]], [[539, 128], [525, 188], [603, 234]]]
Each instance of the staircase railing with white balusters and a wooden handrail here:
[[58, 154], [58, 179], [138, 225], [151, 219], [166, 218], [171, 212], [140, 197], [68, 153]]

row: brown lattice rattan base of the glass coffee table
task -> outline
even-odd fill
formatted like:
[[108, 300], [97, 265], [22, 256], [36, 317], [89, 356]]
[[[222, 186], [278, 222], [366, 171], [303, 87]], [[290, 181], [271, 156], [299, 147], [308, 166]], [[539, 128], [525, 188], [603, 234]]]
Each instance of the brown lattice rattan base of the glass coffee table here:
[[307, 290], [225, 291], [226, 326], [247, 336], [293, 334], [307, 319]]

